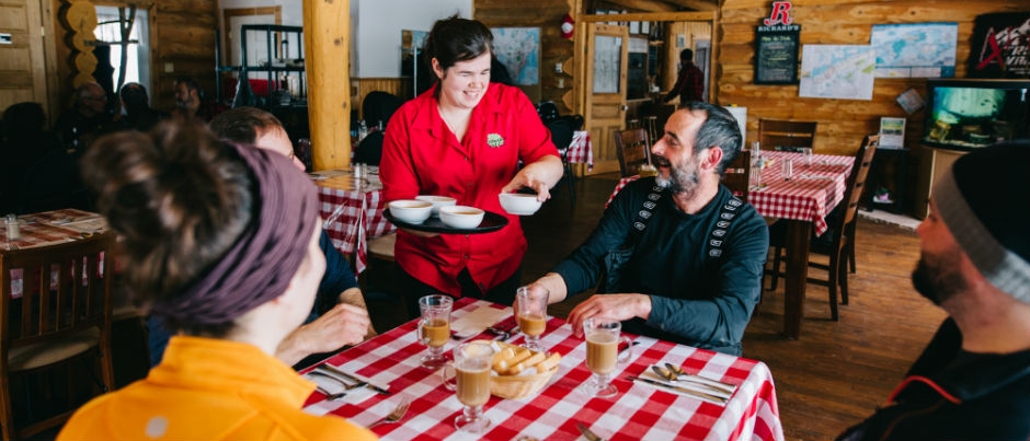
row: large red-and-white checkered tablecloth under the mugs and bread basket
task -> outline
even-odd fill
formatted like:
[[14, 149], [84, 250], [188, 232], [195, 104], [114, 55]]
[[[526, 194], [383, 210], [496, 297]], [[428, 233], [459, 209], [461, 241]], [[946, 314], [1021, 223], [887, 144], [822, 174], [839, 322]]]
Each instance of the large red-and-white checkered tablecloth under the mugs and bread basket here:
[[[470, 299], [456, 302], [453, 320], [479, 307], [510, 307]], [[511, 323], [512, 317], [502, 322]], [[419, 367], [425, 346], [415, 338], [417, 321], [347, 349], [327, 360], [332, 365], [388, 384], [391, 395], [373, 395], [356, 404], [325, 402], [313, 393], [306, 411], [333, 414], [368, 426], [385, 417], [404, 395], [411, 399], [408, 415], [396, 425], [373, 429], [382, 440], [464, 440], [476, 437], [457, 432], [453, 421], [462, 406], [438, 376]], [[633, 336], [630, 336], [633, 337]], [[489, 334], [472, 338], [489, 338]], [[562, 355], [559, 370], [537, 394], [518, 398], [490, 398], [484, 415], [493, 421], [484, 440], [515, 440], [528, 436], [539, 440], [580, 439], [575, 422], [582, 421], [608, 440], [783, 440], [776, 402], [776, 387], [768, 367], [760, 361], [717, 353], [689, 346], [636, 337], [630, 362], [613, 375], [619, 394], [592, 398], [576, 387], [591, 373], [586, 369], [586, 343], [572, 335], [561, 318], [552, 317], [541, 344]], [[523, 337], [511, 340], [522, 344]], [[447, 350], [454, 345], [448, 345]], [[651, 364], [671, 362], [684, 370], [736, 384], [725, 406], [633, 383], [626, 378], [642, 374]]]

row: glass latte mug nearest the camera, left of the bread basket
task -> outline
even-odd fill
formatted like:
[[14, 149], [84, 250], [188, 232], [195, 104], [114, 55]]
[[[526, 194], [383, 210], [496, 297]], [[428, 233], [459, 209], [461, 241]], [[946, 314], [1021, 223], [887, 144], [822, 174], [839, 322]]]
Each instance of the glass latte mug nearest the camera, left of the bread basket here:
[[469, 341], [455, 348], [455, 361], [447, 364], [440, 375], [444, 386], [455, 391], [465, 409], [455, 418], [455, 429], [482, 433], [490, 427], [483, 416], [483, 405], [490, 401], [490, 375], [496, 349], [487, 341]]

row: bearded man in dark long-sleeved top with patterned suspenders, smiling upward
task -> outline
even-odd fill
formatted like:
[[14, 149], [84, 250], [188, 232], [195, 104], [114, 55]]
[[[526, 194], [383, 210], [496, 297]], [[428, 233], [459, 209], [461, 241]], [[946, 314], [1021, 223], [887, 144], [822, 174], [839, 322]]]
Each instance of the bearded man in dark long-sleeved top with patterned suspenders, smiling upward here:
[[609, 251], [636, 242], [605, 293], [569, 314], [576, 336], [586, 318], [603, 317], [629, 333], [740, 356], [769, 248], [762, 216], [719, 183], [741, 146], [722, 107], [691, 102], [676, 111], [651, 148], [660, 175], [629, 183], [586, 242], [530, 289], [547, 288], [550, 303], [585, 291], [605, 275]]

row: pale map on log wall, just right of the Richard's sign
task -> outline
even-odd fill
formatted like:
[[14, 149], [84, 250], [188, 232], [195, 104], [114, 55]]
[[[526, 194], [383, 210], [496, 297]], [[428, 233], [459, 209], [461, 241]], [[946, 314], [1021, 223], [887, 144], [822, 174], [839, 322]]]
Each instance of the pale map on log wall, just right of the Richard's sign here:
[[877, 56], [872, 46], [804, 45], [799, 96], [872, 100]]

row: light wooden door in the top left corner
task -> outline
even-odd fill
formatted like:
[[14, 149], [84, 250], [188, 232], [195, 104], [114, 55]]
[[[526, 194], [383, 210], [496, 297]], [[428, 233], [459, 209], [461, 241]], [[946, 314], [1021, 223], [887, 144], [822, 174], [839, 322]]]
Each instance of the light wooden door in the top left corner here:
[[0, 2], [0, 112], [34, 101], [50, 113], [42, 31], [38, 0]]

